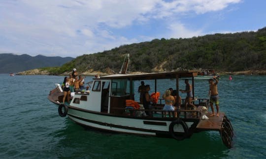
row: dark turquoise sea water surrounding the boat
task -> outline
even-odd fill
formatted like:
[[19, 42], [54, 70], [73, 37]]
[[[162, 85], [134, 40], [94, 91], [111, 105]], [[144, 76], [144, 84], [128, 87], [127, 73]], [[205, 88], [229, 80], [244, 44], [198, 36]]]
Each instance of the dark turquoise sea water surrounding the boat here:
[[[57, 107], [47, 100], [54, 83], [63, 82], [64, 77], [2, 74], [0, 79], [2, 159], [266, 158], [266, 76], [233, 76], [232, 81], [222, 76], [219, 82], [220, 110], [226, 112], [235, 133], [232, 149], [224, 146], [219, 132], [194, 133], [188, 139], [176, 141], [86, 130], [60, 117]], [[87, 77], [86, 82], [90, 79]], [[153, 84], [151, 81], [145, 83]], [[198, 79], [195, 83], [195, 95], [206, 98], [207, 81]], [[158, 90], [162, 92], [174, 84], [166, 80]], [[183, 80], [180, 87], [184, 87]], [[153, 91], [152, 87], [150, 92]]]

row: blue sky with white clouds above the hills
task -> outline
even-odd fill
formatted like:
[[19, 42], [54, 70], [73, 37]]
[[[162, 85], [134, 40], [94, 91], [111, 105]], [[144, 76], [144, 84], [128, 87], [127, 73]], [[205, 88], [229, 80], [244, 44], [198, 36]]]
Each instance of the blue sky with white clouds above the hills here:
[[0, 53], [71, 56], [161, 38], [257, 31], [266, 0], [0, 0]]

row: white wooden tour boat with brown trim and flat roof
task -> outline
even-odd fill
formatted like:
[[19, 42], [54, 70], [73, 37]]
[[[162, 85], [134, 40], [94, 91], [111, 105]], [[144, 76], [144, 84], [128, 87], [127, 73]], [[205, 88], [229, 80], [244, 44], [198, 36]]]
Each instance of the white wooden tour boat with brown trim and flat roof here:
[[[120, 71], [121, 72], [121, 71]], [[144, 109], [135, 99], [134, 85], [139, 80], [153, 81], [155, 92], [159, 92], [158, 83], [163, 79], [178, 81], [192, 79], [193, 95], [194, 78], [198, 72], [193, 70], [143, 74], [113, 74], [95, 77], [91, 89], [71, 93], [71, 102], [62, 104], [63, 90], [60, 84], [50, 91], [48, 99], [58, 108], [60, 116], [67, 116], [78, 125], [104, 132], [118, 132], [144, 136], [172, 137], [176, 140], [189, 138], [193, 133], [202, 131], [220, 132], [223, 143], [232, 147], [233, 127], [224, 112], [219, 117], [210, 116], [209, 100], [194, 100], [196, 109], [182, 105], [180, 109], [165, 111], [164, 100], [158, 99], [150, 109]], [[165, 80], [164, 80], [165, 81]], [[178, 92], [178, 91], [177, 91]], [[149, 112], [147, 115], [146, 112]]]

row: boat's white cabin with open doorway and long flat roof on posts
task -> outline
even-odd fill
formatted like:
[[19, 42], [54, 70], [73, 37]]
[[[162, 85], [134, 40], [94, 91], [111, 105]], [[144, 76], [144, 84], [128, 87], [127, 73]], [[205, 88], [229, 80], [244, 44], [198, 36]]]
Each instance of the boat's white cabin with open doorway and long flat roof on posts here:
[[[125, 112], [126, 100], [134, 99], [134, 81], [139, 80], [153, 80], [155, 92], [157, 92], [157, 82], [160, 79], [175, 79], [176, 90], [179, 90], [178, 81], [181, 78], [191, 78], [193, 85], [194, 96], [194, 77], [197, 76], [196, 71], [178, 71], [167, 73], [149, 73], [149, 74], [115, 74], [109, 76], [103, 76], [93, 79], [92, 88], [90, 93], [79, 92], [75, 93], [70, 106], [79, 107], [91, 111], [97, 111], [102, 113], [111, 113], [116, 115], [122, 115]], [[177, 91], [178, 96], [178, 91]], [[137, 102], [139, 99], [136, 99]], [[155, 107], [162, 107], [162, 100], [154, 105]], [[200, 100], [199, 103], [207, 100]]]

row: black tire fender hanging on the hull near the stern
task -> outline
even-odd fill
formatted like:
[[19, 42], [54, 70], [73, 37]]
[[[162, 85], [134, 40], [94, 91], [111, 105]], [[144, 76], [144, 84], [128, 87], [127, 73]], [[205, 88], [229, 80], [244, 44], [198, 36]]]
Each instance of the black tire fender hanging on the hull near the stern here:
[[[177, 132], [174, 132], [174, 125], [181, 125], [184, 129], [184, 132], [179, 132], [178, 135], [176, 134]], [[171, 122], [171, 124], [169, 125], [169, 132], [171, 134], [171, 136], [176, 139], [176, 140], [183, 140], [184, 138], [186, 138], [188, 136], [188, 132], [189, 132], [189, 128], [187, 126], [187, 124], [182, 120], [182, 119], [176, 119], [174, 121]]]

